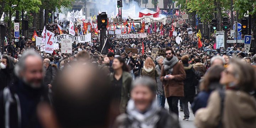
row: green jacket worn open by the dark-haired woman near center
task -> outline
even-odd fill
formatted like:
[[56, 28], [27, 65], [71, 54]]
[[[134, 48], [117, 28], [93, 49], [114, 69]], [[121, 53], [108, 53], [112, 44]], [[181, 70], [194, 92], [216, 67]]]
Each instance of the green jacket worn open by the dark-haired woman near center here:
[[[110, 74], [111, 82], [114, 81], [114, 73]], [[124, 113], [126, 111], [127, 102], [129, 101], [130, 97], [130, 88], [132, 84], [132, 77], [130, 73], [123, 71], [122, 74], [122, 90], [121, 90], [121, 101], [119, 104], [119, 111], [120, 113]]]

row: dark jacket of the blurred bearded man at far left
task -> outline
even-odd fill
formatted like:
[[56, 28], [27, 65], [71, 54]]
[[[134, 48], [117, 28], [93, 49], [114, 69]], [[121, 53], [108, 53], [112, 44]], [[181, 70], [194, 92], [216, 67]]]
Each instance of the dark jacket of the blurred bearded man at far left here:
[[47, 89], [43, 85], [33, 89], [22, 80], [16, 80], [13, 86], [0, 91], [0, 127], [41, 128], [36, 110], [39, 102], [49, 102]]

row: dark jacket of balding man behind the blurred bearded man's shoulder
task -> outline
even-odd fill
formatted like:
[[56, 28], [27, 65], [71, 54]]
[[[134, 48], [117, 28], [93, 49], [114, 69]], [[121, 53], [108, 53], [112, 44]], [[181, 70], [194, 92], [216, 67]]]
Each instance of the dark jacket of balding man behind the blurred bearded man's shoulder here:
[[57, 68], [52, 65], [49, 65], [46, 69], [46, 74], [44, 75], [44, 85], [53, 84], [54, 79], [57, 76]]

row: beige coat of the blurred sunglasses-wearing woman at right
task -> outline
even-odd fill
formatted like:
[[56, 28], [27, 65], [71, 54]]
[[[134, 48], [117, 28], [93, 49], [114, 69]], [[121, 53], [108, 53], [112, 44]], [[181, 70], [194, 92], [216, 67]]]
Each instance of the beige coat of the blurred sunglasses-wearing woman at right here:
[[[220, 119], [220, 96], [212, 92], [206, 108], [195, 114], [198, 128], [216, 128]], [[226, 90], [222, 117], [223, 128], [256, 128], [256, 100], [242, 91]]]

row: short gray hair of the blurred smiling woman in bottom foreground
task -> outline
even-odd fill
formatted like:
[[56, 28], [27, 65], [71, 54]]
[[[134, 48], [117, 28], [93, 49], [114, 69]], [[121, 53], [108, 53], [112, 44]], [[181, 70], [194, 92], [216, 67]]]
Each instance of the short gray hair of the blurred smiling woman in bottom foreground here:
[[154, 95], [156, 94], [156, 82], [148, 76], [142, 76], [140, 78], [135, 79], [135, 81], [132, 84], [132, 89], [134, 89], [134, 87], [137, 86], [146, 86]]

